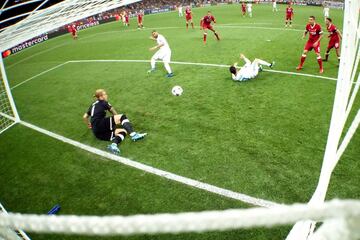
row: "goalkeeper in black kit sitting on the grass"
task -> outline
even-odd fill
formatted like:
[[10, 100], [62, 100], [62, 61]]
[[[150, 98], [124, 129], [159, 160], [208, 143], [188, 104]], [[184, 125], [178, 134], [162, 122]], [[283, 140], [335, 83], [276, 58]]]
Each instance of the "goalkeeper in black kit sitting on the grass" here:
[[[134, 142], [145, 137], [146, 133], [135, 132], [126, 115], [118, 114], [107, 102], [108, 95], [104, 89], [96, 90], [94, 97], [96, 101], [91, 104], [83, 119], [97, 139], [112, 142], [107, 147], [110, 152], [116, 155], [120, 154], [118, 145], [127, 134]], [[112, 116], [106, 117], [106, 112], [110, 112]], [[121, 128], [117, 126], [121, 126]]]

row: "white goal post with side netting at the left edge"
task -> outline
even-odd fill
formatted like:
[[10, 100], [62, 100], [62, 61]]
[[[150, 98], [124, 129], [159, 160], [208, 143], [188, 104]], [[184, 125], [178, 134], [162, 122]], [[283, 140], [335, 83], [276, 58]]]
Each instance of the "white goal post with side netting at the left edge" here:
[[0, 56], [0, 134], [20, 122], [14, 98], [6, 76], [3, 58]]

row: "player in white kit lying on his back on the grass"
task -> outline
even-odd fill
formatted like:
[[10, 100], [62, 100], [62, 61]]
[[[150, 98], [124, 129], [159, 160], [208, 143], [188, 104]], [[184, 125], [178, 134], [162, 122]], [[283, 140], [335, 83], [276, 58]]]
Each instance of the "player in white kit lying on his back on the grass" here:
[[235, 81], [247, 81], [255, 78], [259, 72], [262, 71], [262, 66], [272, 68], [275, 64], [275, 62], [268, 63], [258, 58], [255, 58], [255, 60], [251, 62], [244, 56], [244, 54], [240, 54], [240, 59], [245, 61], [245, 65], [243, 67], [239, 68], [238, 63], [236, 62], [229, 68], [231, 77]]

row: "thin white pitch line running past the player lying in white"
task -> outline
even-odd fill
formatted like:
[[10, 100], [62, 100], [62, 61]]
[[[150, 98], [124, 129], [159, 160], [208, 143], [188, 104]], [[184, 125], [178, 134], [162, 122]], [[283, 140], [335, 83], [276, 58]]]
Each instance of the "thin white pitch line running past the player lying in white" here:
[[[71, 60], [68, 63], [86, 63], [86, 62], [137, 62], [137, 63], [149, 63], [150, 60], [112, 60], [112, 59], [100, 59], [100, 60]], [[179, 61], [172, 61], [172, 64], [181, 64], [181, 65], [195, 65], [195, 66], [206, 66], [206, 67], [221, 67], [221, 68], [228, 68], [230, 65], [226, 64], [214, 64], [214, 63], [195, 63], [195, 62], [179, 62]], [[337, 81], [336, 78], [332, 77], [324, 77], [319, 75], [307, 74], [307, 73], [298, 73], [298, 72], [287, 72], [287, 71], [280, 71], [280, 70], [272, 70], [272, 69], [263, 69], [264, 72], [274, 72], [280, 74], [287, 74], [287, 75], [297, 75], [297, 76], [304, 76], [304, 77], [313, 77], [313, 78], [320, 78], [326, 80]]]

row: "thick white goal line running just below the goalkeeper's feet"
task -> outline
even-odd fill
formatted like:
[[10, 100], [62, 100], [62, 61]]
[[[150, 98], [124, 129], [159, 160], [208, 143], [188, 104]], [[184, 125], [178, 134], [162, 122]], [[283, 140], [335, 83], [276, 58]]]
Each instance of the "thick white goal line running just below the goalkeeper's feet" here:
[[[8, 116], [6, 114], [2, 114], [2, 115], [9, 118], [9, 119], [15, 120], [13, 117]], [[128, 158], [116, 156], [114, 154], [111, 154], [111, 153], [102, 151], [100, 149], [88, 146], [86, 144], [80, 143], [80, 142], [72, 140], [70, 138], [66, 138], [66, 137], [61, 136], [59, 134], [56, 134], [54, 132], [50, 132], [50, 131], [48, 131], [46, 129], [40, 128], [38, 126], [35, 126], [35, 125], [31, 124], [31, 123], [28, 123], [28, 122], [25, 122], [25, 121], [22, 121], [22, 120], [19, 123], [21, 125], [24, 125], [25, 127], [33, 129], [33, 130], [35, 130], [37, 132], [40, 132], [40, 133], [45, 134], [45, 135], [47, 135], [49, 137], [55, 138], [55, 139], [57, 139], [59, 141], [62, 141], [64, 143], [70, 144], [70, 145], [72, 145], [74, 147], [80, 148], [80, 149], [85, 150], [87, 152], [90, 152], [92, 154], [98, 155], [100, 157], [107, 158], [109, 160], [116, 161], [116, 162], [124, 164], [126, 166], [130, 166], [130, 167], [142, 170], [144, 172], [151, 173], [151, 174], [154, 174], [154, 175], [157, 175], [157, 176], [160, 176], [160, 177], [163, 177], [163, 178], [166, 178], [166, 179], [178, 182], [178, 183], [182, 183], [182, 184], [194, 187], [194, 188], [205, 190], [207, 192], [215, 193], [217, 195], [227, 197], [227, 198], [230, 198], [230, 199], [239, 200], [239, 201], [242, 201], [244, 203], [248, 203], [248, 204], [251, 204], [251, 205], [254, 205], [254, 206], [270, 208], [270, 207], [275, 207], [275, 206], [280, 205], [280, 204], [277, 204], [275, 202], [267, 201], [267, 200], [260, 199], [260, 198], [251, 197], [251, 196], [248, 196], [246, 194], [234, 192], [234, 191], [224, 189], [224, 188], [220, 188], [220, 187], [208, 184], [208, 183], [200, 182], [200, 181], [197, 181], [197, 180], [194, 180], [194, 179], [191, 179], [191, 178], [183, 177], [183, 176], [171, 173], [171, 172], [167, 172], [167, 171], [164, 171], [164, 170], [161, 170], [161, 169], [157, 169], [157, 168], [154, 168], [154, 167], [151, 167], [151, 166], [148, 166], [148, 165], [145, 165], [145, 164], [130, 160]]]

